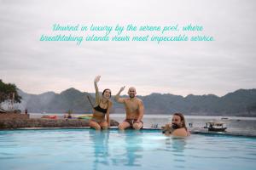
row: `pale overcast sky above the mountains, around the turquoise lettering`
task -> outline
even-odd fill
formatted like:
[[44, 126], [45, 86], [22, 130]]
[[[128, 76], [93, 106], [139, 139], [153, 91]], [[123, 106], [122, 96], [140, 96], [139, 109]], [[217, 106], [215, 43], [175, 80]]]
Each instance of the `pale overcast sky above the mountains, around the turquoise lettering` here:
[[[27, 93], [67, 88], [113, 94], [217, 94], [255, 88], [255, 1], [0, 0], [0, 78]], [[214, 42], [40, 42], [63, 25], [195, 23]]]

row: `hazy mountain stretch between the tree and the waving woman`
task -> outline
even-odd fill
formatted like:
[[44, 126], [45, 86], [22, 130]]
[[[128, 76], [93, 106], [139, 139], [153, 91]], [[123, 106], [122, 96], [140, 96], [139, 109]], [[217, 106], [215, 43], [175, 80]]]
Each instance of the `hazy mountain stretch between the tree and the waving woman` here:
[[[20, 105], [21, 110], [26, 108], [28, 111], [36, 113], [65, 113], [69, 110], [74, 113], [91, 112], [91, 106], [87, 99], [87, 95], [90, 96], [90, 94], [82, 93], [75, 88], [68, 88], [61, 94], [47, 92], [35, 95], [26, 94], [21, 90], [19, 94], [23, 99]], [[94, 98], [90, 98], [94, 101]]]

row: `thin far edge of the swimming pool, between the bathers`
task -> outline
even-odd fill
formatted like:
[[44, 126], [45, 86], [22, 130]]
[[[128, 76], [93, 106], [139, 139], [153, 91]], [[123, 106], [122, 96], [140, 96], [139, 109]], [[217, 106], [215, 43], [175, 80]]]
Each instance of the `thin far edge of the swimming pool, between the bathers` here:
[[[53, 130], [53, 129], [90, 129], [90, 127], [21, 127], [15, 129], [0, 129], [2, 130]], [[118, 127], [109, 127], [108, 129], [118, 130]], [[160, 131], [160, 128], [151, 128], [143, 127], [143, 130], [157, 130]], [[228, 133], [228, 132], [203, 132], [198, 130], [192, 130], [191, 134], [219, 134], [219, 135], [230, 135], [230, 136], [242, 136], [242, 137], [253, 137], [256, 138], [256, 135], [247, 134], [247, 133]]]

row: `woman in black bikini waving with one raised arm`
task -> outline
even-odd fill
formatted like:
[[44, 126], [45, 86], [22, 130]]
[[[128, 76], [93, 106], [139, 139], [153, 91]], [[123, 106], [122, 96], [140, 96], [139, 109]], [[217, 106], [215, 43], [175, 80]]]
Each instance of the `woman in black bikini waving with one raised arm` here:
[[[94, 80], [94, 86], [96, 90], [96, 102], [94, 105], [93, 116], [90, 119], [89, 126], [95, 128], [96, 130], [107, 129], [110, 127], [109, 120], [109, 111], [112, 107], [112, 102], [109, 100], [111, 97], [110, 89], [105, 89], [102, 93], [102, 98], [99, 94], [99, 88], [97, 82], [101, 79], [100, 76], [97, 76]], [[106, 119], [105, 119], [106, 117]]]

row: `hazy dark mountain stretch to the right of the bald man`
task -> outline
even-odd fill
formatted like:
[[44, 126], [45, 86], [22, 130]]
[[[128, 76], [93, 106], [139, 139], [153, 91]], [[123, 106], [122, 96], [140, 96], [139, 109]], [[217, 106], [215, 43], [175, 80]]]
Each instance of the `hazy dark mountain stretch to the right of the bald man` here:
[[256, 116], [256, 89], [240, 89], [218, 97], [213, 94], [186, 97], [150, 94], [142, 98], [149, 112], [183, 112], [187, 115]]

